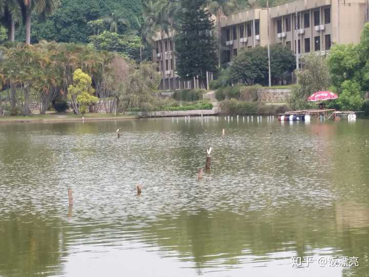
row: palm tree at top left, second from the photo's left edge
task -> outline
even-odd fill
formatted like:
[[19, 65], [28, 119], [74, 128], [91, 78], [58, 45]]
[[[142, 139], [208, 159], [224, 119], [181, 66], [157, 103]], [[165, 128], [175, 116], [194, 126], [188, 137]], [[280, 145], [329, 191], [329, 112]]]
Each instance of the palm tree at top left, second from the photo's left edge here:
[[59, 0], [22, 0], [24, 21], [26, 25], [26, 44], [31, 44], [31, 18], [33, 11], [45, 17], [52, 14], [59, 4]]

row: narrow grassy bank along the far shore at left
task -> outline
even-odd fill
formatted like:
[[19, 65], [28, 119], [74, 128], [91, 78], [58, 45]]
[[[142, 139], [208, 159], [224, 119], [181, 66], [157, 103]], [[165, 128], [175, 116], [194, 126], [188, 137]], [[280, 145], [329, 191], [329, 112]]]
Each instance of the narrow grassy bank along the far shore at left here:
[[[126, 114], [106, 114], [106, 113], [86, 113], [84, 116], [85, 121], [103, 121], [103, 120], [131, 120], [138, 118], [136, 115], [126, 115]], [[31, 114], [29, 116], [22, 115], [5, 115], [0, 117], [0, 123], [6, 122], [68, 122], [68, 121], [81, 121], [82, 115], [76, 115], [72, 112], [66, 113], [47, 113], [45, 115], [41, 114]]]

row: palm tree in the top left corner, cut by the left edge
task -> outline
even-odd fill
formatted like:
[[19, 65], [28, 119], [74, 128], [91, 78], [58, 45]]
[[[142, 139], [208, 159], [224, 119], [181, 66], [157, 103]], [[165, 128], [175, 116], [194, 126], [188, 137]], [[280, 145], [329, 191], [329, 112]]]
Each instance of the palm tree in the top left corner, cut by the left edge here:
[[14, 42], [15, 24], [22, 18], [22, 7], [18, 0], [0, 0], [0, 16], [2, 23], [8, 29], [8, 39]]

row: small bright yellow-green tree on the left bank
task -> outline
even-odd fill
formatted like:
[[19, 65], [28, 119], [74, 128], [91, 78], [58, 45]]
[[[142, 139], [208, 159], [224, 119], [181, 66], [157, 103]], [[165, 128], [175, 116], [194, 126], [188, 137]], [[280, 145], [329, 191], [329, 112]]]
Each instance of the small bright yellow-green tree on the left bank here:
[[84, 114], [88, 107], [98, 101], [93, 96], [95, 90], [91, 87], [91, 77], [81, 69], [73, 73], [73, 85], [68, 87], [68, 98], [76, 114]]

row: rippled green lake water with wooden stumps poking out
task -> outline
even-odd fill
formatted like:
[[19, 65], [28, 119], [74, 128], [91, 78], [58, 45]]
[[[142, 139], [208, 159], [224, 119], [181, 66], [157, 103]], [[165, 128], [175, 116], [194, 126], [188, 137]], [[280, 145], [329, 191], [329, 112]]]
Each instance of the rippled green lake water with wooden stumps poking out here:
[[368, 276], [369, 120], [218, 119], [0, 124], [0, 276]]

